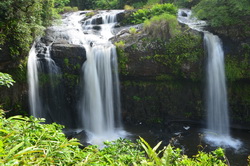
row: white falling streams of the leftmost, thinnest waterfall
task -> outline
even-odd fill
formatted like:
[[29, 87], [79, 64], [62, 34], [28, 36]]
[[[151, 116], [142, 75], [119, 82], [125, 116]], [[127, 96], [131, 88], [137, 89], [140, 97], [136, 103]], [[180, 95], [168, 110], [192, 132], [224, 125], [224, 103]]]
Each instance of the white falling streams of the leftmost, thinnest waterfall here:
[[[60, 118], [60, 116], [62, 116], [61, 113], [58, 114], [59, 118], [55, 118], [58, 117], [58, 115], [52, 110], [53, 108], [49, 106], [50, 103], [53, 103], [52, 105], [58, 103], [56, 98], [58, 98], [60, 94], [57, 93], [58, 90], [56, 87], [58, 75], [60, 76], [60, 69], [50, 57], [51, 46], [44, 47], [45, 50], [42, 51], [42, 54], [40, 53], [41, 57], [38, 57], [35, 48], [36, 44], [37, 43], [33, 44], [28, 58], [29, 104], [31, 115], [37, 118], [45, 118], [47, 122], [56, 121], [61, 123], [63, 121], [63, 118]], [[41, 74], [48, 75], [48, 89], [42, 89], [39, 84], [39, 75]], [[45, 94], [46, 92], [49, 92], [49, 94]], [[47, 99], [44, 99], [44, 94]]]

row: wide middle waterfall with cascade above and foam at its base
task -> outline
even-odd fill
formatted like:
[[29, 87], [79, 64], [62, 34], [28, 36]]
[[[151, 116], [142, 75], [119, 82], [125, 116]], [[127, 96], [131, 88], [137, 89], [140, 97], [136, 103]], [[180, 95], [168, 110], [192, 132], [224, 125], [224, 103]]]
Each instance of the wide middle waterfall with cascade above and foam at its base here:
[[[122, 128], [116, 48], [109, 41], [116, 14], [102, 14], [102, 24], [98, 24], [101, 38], [92, 39], [85, 45], [87, 61], [82, 68], [84, 87], [79, 108], [83, 126], [90, 135], [89, 142], [95, 144], [110, 140], [110, 137], [117, 138], [117, 129]], [[93, 30], [96, 19], [100, 18], [87, 20], [83, 29]]]

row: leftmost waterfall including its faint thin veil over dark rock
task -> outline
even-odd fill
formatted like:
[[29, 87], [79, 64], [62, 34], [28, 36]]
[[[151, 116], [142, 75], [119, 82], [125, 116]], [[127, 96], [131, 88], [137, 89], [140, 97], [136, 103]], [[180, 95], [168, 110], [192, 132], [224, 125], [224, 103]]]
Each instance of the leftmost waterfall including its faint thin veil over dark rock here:
[[[28, 58], [29, 103], [31, 115], [47, 123], [69, 125], [61, 87], [61, 71], [50, 57], [50, 47], [34, 43]], [[57, 111], [55, 111], [57, 110]]]

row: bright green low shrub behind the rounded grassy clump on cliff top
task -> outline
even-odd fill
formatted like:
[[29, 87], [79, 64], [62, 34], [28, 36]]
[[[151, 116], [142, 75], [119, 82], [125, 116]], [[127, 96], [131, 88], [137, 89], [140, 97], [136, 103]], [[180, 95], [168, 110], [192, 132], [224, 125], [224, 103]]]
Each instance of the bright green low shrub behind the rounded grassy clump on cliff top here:
[[130, 16], [129, 21], [132, 24], [140, 24], [143, 23], [145, 20], [150, 19], [153, 16], [159, 16], [163, 13], [176, 15], [177, 8], [170, 3], [156, 4], [152, 6], [150, 9], [144, 8], [137, 10]]

